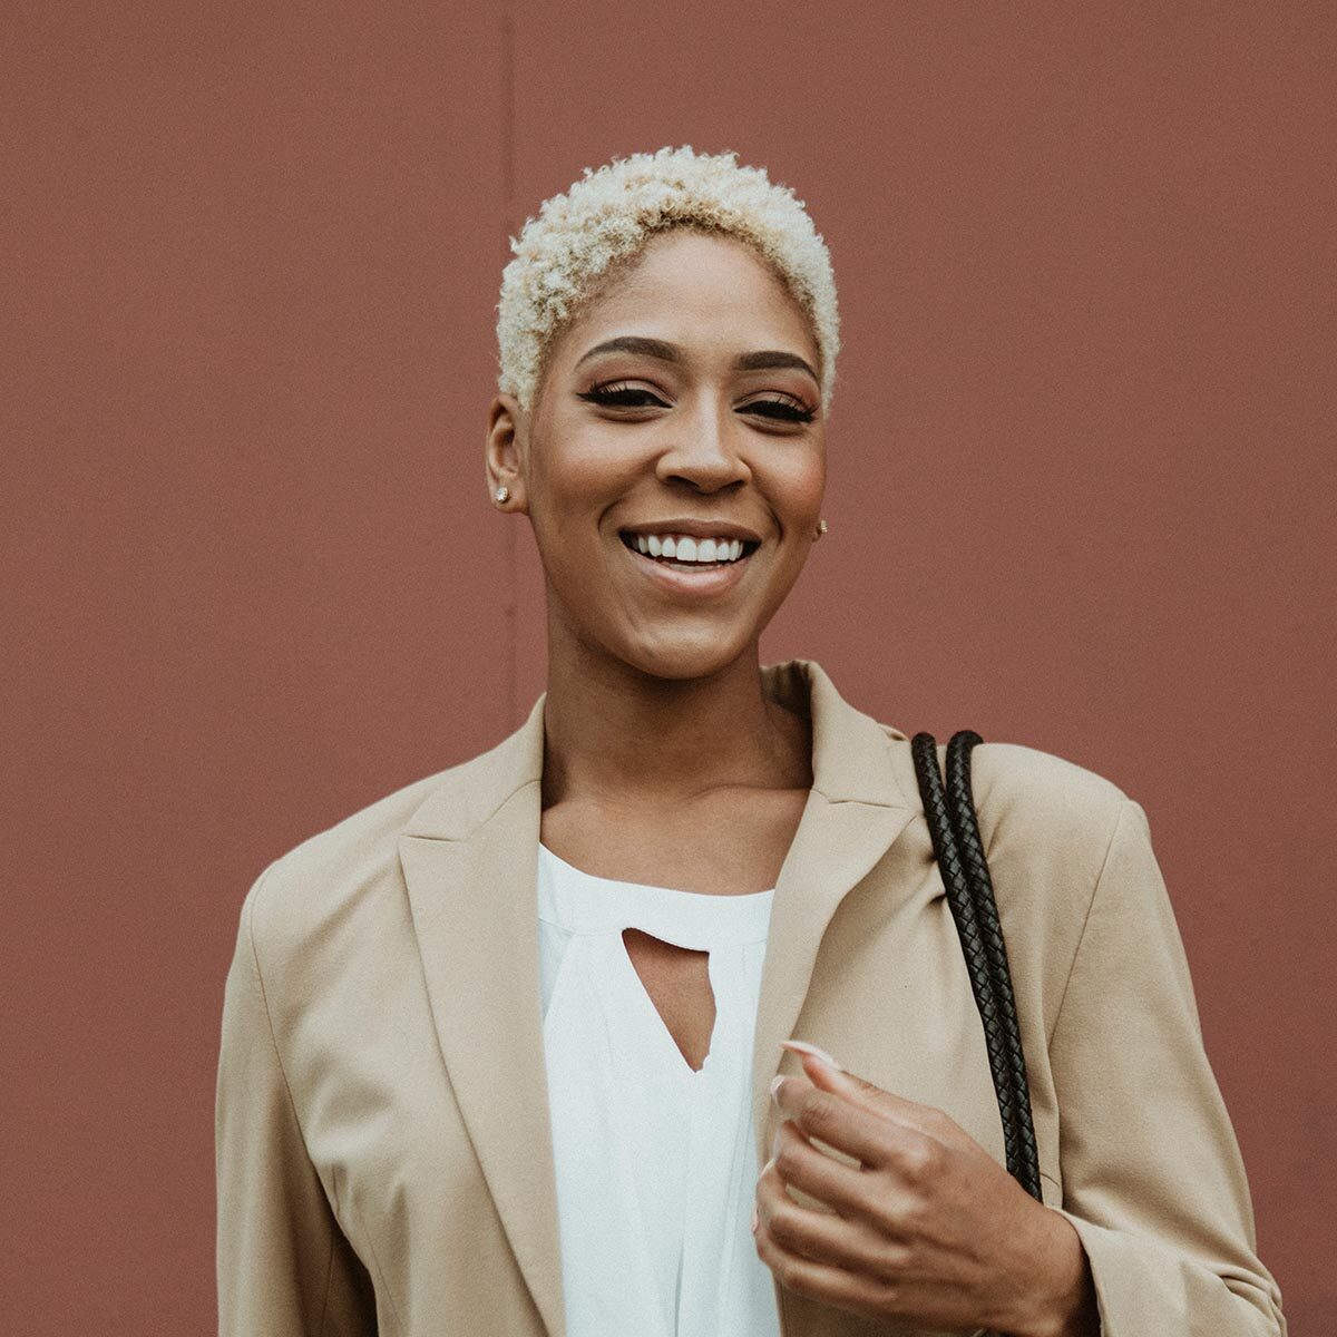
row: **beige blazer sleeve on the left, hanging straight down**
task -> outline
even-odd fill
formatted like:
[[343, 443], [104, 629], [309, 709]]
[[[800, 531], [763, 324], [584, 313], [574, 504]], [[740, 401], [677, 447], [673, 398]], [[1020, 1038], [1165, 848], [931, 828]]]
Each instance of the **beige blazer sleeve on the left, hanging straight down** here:
[[242, 904], [223, 993], [215, 1100], [219, 1337], [369, 1337], [370, 1277], [340, 1230], [302, 1139]]

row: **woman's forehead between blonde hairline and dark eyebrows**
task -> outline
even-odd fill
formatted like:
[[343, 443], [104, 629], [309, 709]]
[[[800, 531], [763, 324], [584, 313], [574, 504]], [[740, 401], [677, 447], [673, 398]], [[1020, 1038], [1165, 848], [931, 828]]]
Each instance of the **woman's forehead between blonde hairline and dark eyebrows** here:
[[808, 317], [779, 275], [737, 238], [674, 229], [615, 271], [568, 330], [578, 358], [604, 333], [654, 333], [721, 352], [789, 348], [816, 364]]

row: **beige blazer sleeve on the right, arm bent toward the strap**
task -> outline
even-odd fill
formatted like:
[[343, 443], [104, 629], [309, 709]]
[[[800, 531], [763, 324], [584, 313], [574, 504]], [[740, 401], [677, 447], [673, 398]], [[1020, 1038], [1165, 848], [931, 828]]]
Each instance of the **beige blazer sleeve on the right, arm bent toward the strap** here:
[[1146, 813], [1122, 808], [1050, 1060], [1102, 1337], [1286, 1337]]

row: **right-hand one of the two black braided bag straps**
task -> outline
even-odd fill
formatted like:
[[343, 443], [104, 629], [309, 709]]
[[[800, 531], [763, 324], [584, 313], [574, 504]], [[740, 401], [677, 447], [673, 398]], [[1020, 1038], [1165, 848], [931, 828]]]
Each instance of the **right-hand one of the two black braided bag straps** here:
[[993, 898], [989, 865], [984, 857], [984, 841], [980, 838], [980, 826], [971, 801], [971, 750], [981, 742], [984, 739], [977, 733], [963, 729], [947, 745], [947, 804], [956, 830], [957, 856], [971, 884], [976, 924], [989, 963], [989, 980], [1011, 1079], [1012, 1126], [1004, 1127], [1007, 1166], [1032, 1198], [1040, 1198], [1040, 1158], [1035, 1143], [1035, 1123], [1031, 1118], [1031, 1090], [1025, 1080], [1025, 1055], [1017, 1025], [1012, 975], [1007, 964], [1007, 944], [1003, 940], [997, 902]]

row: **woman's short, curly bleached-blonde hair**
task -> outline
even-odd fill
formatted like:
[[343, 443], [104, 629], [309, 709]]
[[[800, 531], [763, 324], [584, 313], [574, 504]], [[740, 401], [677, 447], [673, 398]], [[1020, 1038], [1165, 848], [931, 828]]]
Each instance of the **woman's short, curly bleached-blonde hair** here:
[[575, 317], [616, 261], [675, 226], [727, 233], [770, 263], [812, 324], [821, 356], [824, 410], [830, 409], [840, 318], [830, 254], [804, 201], [738, 155], [698, 154], [690, 144], [614, 158], [525, 219], [501, 275], [497, 389], [528, 410], [554, 336]]

